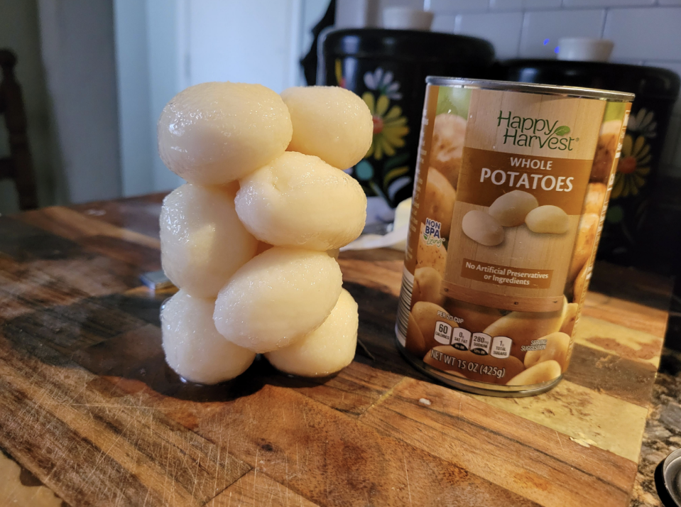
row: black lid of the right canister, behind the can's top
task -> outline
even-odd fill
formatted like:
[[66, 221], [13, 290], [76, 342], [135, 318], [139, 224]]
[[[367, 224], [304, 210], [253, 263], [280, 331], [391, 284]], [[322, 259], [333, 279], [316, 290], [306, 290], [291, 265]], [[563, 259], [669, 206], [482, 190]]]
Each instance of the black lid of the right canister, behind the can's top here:
[[501, 62], [502, 79], [517, 82], [612, 89], [675, 100], [681, 80], [674, 72], [659, 67], [606, 62], [567, 60], [506, 60]]

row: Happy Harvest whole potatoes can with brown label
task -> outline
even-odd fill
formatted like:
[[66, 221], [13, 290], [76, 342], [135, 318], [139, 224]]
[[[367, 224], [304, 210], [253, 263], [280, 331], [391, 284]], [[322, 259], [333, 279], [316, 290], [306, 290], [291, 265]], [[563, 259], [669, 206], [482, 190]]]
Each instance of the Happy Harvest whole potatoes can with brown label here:
[[398, 348], [464, 391], [543, 393], [570, 363], [633, 94], [426, 82]]

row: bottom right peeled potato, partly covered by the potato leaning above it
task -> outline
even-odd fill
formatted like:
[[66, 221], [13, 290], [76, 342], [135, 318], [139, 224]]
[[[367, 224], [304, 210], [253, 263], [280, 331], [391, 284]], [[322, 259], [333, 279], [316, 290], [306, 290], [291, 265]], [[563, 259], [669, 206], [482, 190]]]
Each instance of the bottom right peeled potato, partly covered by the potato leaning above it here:
[[320, 327], [293, 345], [268, 352], [272, 366], [287, 374], [321, 377], [352, 363], [357, 345], [357, 303], [343, 289], [331, 314]]

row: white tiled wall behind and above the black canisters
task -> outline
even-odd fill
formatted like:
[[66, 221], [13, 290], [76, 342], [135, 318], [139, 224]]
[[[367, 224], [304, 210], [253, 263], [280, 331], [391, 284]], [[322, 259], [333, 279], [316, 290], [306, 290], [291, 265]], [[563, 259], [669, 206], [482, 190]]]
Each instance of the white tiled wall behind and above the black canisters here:
[[[560, 37], [614, 40], [614, 62], [681, 74], [681, 0], [425, 0], [432, 29], [486, 38], [499, 58], [552, 58]], [[381, 7], [423, 8], [423, 0], [381, 0]], [[663, 171], [681, 178], [681, 101], [663, 153]]]

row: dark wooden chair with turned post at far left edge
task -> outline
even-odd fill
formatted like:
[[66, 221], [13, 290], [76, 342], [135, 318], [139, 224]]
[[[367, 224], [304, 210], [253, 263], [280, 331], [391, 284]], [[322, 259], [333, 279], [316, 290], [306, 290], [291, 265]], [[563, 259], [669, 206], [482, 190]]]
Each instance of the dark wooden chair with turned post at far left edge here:
[[36, 176], [28, 149], [26, 110], [21, 98], [21, 87], [14, 77], [14, 65], [16, 55], [10, 50], [0, 50], [0, 114], [5, 117], [9, 131], [9, 157], [0, 158], [0, 180], [9, 178], [14, 181], [21, 210], [35, 209], [38, 207]]

